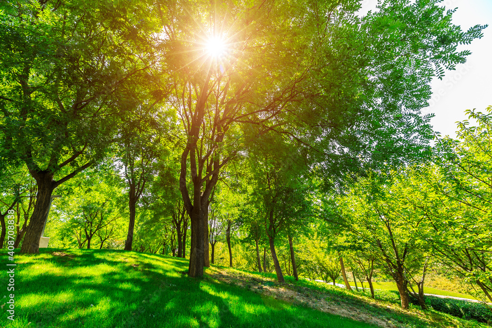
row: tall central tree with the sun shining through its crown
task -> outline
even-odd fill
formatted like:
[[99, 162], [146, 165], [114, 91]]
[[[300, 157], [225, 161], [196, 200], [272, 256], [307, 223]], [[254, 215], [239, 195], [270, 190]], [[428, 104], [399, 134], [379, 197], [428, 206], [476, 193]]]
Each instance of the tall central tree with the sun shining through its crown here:
[[[166, 63], [170, 71], [179, 74], [172, 76], [174, 89], [168, 101], [178, 110], [188, 137], [180, 186], [191, 218], [190, 276], [203, 274], [203, 217], [219, 171], [240, 151], [238, 127], [259, 125], [264, 132], [280, 127], [277, 118], [288, 121], [284, 115], [293, 110], [287, 104], [302, 99], [304, 91], [309, 90], [301, 85], [309, 60], [290, 59], [307, 58], [311, 50], [308, 45], [318, 45], [320, 41], [315, 38], [319, 34], [312, 30], [316, 24], [312, 11], [304, 3], [295, 3], [294, 7], [292, 3], [267, 1], [245, 8], [230, 1], [186, 12], [180, 6], [170, 8], [176, 18], [165, 33], [170, 49], [179, 52], [170, 53]], [[189, 12], [198, 14], [187, 21], [177, 19], [187, 17]], [[205, 12], [214, 19], [209, 20]], [[290, 24], [300, 13], [309, 17], [307, 21]], [[232, 21], [232, 17], [241, 19]], [[196, 24], [201, 27], [197, 33]], [[209, 56], [201, 46], [209, 38], [224, 39], [227, 53], [219, 58]], [[188, 161], [191, 179], [187, 178]]]

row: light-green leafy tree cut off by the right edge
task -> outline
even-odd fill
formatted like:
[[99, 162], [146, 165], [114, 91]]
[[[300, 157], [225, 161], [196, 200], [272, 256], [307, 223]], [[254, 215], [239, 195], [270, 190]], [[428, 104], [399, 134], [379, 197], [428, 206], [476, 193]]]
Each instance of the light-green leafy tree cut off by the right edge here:
[[[434, 163], [417, 171], [412, 204], [431, 221], [432, 246], [440, 261], [492, 301], [492, 195], [490, 182], [492, 107], [467, 110], [458, 139], [437, 140]], [[477, 296], [478, 293], [477, 293]]]

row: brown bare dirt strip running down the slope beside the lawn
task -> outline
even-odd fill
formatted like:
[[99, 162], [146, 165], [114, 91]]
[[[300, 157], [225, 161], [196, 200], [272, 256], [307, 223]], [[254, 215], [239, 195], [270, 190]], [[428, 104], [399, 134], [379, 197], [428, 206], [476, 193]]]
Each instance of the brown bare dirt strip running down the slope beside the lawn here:
[[[244, 274], [244, 272], [241, 273]], [[348, 303], [346, 301], [342, 301], [340, 298], [334, 297], [333, 295], [309, 288], [294, 286], [289, 283], [280, 284], [273, 279], [262, 276], [242, 274], [225, 270], [214, 270], [210, 272], [210, 276], [212, 278], [221, 282], [246, 288], [252, 292], [262, 295], [282, 299], [292, 304], [304, 305], [318, 311], [339, 315], [352, 320], [377, 325], [379, 327], [403, 327], [400, 323], [392, 322], [391, 319], [385, 317], [384, 315], [377, 315], [373, 311], [364, 308], [379, 308], [380, 312], [394, 311], [391, 308], [383, 308], [376, 302], [371, 304], [362, 304], [362, 302], [358, 301]]]

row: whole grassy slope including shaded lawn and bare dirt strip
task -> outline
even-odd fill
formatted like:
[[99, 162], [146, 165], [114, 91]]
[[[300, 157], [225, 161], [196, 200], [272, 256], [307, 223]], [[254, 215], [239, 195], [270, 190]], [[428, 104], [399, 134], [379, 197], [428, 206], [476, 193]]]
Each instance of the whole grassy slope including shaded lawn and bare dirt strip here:
[[[14, 262], [0, 255], [0, 327], [487, 327], [326, 284], [279, 285], [271, 274], [213, 267], [188, 278], [186, 260], [162, 255], [50, 248]], [[6, 291], [7, 263], [17, 265], [14, 292]], [[13, 322], [4, 304], [10, 293]]]

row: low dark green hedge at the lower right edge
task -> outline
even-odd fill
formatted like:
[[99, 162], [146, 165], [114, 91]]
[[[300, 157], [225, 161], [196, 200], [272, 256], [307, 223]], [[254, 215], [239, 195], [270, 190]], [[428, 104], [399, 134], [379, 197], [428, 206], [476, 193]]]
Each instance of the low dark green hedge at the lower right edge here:
[[478, 322], [483, 323], [492, 323], [491, 308], [482, 303], [470, 302], [454, 298], [426, 296], [426, 304], [436, 311], [451, 314], [455, 317], [467, 320], [474, 319]]

